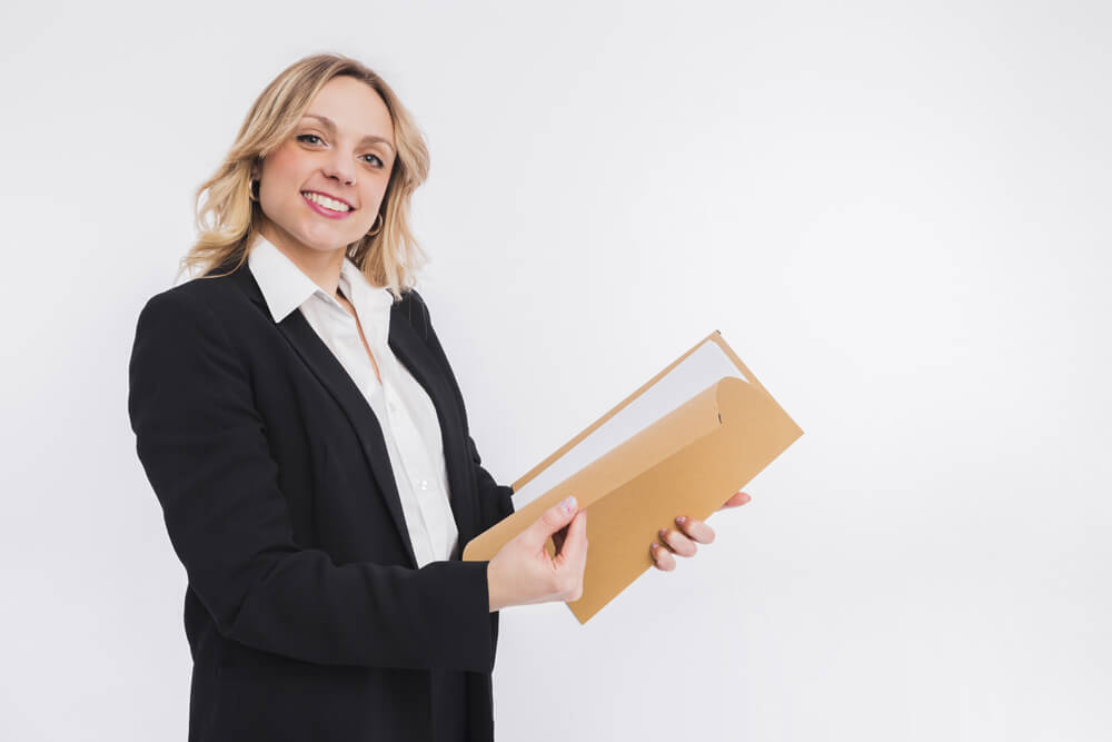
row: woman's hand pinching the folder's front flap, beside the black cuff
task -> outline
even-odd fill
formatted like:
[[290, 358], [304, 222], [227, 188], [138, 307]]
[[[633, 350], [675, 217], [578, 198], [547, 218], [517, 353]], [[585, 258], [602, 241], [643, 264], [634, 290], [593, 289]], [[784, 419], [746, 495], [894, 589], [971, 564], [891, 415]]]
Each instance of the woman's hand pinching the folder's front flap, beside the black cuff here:
[[[509, 605], [577, 601], [587, 565], [587, 513], [568, 497], [506, 543], [487, 565], [490, 611]], [[558, 531], [566, 528], [567, 534]], [[545, 544], [552, 537], [556, 556]]]

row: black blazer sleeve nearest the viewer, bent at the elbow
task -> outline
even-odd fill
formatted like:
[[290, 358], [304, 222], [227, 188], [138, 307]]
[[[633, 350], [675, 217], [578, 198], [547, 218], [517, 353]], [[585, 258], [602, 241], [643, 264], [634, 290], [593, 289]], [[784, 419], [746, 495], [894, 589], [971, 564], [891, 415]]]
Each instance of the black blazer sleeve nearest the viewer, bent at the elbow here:
[[317, 664], [490, 672], [488, 562], [337, 565], [299, 546], [252, 398], [208, 304], [177, 289], [147, 303], [128, 413], [171, 545], [218, 631]]

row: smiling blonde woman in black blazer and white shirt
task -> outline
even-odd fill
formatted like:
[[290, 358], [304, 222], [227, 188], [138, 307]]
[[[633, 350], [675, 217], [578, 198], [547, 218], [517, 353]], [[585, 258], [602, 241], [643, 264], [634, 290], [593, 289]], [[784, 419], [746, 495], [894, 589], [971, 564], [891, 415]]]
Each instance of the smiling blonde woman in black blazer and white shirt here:
[[[140, 313], [128, 406], [189, 582], [190, 741], [492, 740], [498, 610], [582, 594], [574, 498], [460, 561], [513, 491], [413, 290], [427, 170], [381, 78], [302, 59], [198, 189], [203, 275]], [[681, 528], [658, 568], [714, 536]]]

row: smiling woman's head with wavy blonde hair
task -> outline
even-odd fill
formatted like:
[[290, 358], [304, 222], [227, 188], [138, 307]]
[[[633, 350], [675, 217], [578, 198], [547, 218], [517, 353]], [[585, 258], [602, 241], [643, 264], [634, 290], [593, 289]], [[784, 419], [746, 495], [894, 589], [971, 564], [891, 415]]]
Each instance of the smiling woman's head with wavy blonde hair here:
[[409, 225], [427, 175], [425, 141], [380, 76], [340, 55], [307, 57], [262, 91], [198, 187], [199, 236], [179, 276], [224, 275], [261, 235], [315, 279], [346, 256], [400, 299], [427, 263]]

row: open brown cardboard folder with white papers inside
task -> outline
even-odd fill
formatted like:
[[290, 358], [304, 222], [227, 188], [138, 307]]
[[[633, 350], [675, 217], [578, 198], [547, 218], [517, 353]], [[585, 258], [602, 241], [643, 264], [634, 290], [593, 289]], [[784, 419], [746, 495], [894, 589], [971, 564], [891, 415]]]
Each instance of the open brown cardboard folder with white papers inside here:
[[[635, 402], [642, 404], [631, 407]], [[574, 469], [468, 542], [463, 558], [493, 558], [547, 508], [575, 495], [590, 512], [590, 546], [583, 595], [567, 605], [586, 623], [653, 567], [648, 545], [661, 528], [675, 528], [679, 514], [705, 521], [801, 435], [715, 330], [515, 482], [516, 496], [557, 462]], [[550, 538], [547, 548], [555, 554]]]

